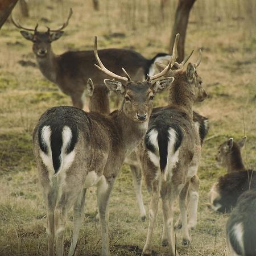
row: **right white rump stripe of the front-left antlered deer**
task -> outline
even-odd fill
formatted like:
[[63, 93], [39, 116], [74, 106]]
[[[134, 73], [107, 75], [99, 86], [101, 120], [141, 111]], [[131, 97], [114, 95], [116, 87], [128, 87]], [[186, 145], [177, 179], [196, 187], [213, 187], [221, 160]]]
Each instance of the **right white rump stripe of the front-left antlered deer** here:
[[75, 150], [71, 151], [69, 154], [66, 154], [65, 151], [72, 139], [72, 131], [68, 126], [64, 126], [62, 130], [62, 147], [60, 153], [60, 168], [56, 175], [58, 175], [62, 171], [68, 170], [73, 163], [75, 158]]

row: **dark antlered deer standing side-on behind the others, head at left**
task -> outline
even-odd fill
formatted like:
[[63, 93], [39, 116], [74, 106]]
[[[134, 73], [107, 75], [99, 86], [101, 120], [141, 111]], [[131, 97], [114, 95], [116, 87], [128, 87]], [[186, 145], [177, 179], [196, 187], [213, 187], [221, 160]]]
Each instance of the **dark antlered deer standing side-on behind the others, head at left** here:
[[[56, 29], [48, 27], [45, 32], [38, 31], [38, 24], [32, 29], [21, 26], [13, 17], [11, 20], [14, 26], [21, 30], [23, 38], [33, 43], [32, 50], [43, 76], [56, 84], [61, 92], [70, 96], [73, 106], [88, 110], [88, 79], [94, 82], [94, 92], [100, 90], [101, 94], [105, 86], [102, 85], [102, 81], [110, 77], [94, 67], [96, 60], [93, 51], [67, 51], [61, 55], [55, 55], [53, 52], [51, 44], [63, 36], [63, 30], [68, 26], [72, 13], [70, 9], [68, 18], [62, 26]], [[99, 56], [105, 65], [118, 75], [122, 73], [120, 67], [124, 67], [133, 81], [142, 81], [148, 72], [154, 72], [155, 60], [170, 57], [167, 53], [158, 53], [152, 59], [146, 59], [131, 49], [117, 48], [99, 50]]]

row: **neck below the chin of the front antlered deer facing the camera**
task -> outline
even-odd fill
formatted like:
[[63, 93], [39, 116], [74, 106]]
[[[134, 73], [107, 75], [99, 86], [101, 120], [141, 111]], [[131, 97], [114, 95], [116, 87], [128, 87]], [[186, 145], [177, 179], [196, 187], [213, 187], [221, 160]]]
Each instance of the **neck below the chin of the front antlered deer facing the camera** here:
[[148, 128], [148, 119], [146, 122], [140, 123], [131, 120], [126, 114], [120, 110], [115, 119], [118, 129], [121, 131], [125, 154], [130, 154], [135, 147], [138, 146], [142, 138], [146, 134]]

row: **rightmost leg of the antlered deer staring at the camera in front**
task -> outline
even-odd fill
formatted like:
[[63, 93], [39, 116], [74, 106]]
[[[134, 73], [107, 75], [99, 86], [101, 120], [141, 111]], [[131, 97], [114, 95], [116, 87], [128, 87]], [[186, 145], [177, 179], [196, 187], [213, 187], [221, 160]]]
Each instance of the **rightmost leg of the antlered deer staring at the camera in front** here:
[[102, 256], [110, 256], [109, 250], [109, 197], [114, 184], [114, 179], [106, 180], [102, 176], [98, 182], [97, 201], [101, 222]]

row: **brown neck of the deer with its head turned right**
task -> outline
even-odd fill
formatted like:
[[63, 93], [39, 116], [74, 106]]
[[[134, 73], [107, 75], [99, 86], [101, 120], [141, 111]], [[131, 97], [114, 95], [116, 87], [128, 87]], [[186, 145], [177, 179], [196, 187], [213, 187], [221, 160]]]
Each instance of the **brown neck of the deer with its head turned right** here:
[[184, 112], [188, 113], [192, 117], [194, 102], [195, 95], [191, 91], [191, 88], [187, 84], [187, 82], [179, 82], [179, 80], [175, 79], [169, 89], [168, 104], [174, 105], [177, 108], [182, 109]]

